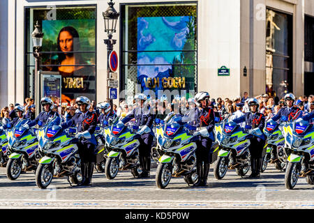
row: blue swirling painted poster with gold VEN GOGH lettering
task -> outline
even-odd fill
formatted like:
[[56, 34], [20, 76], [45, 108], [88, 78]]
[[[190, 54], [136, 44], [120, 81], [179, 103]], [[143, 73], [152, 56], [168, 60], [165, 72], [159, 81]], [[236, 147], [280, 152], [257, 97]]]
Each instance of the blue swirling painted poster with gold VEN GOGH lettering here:
[[137, 82], [142, 91], [194, 89], [194, 21], [190, 16], [137, 17]]

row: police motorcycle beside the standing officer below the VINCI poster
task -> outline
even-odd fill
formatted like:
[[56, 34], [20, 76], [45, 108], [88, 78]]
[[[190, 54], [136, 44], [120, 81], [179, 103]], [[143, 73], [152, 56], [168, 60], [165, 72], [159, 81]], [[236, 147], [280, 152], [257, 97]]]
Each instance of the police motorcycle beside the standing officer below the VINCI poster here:
[[75, 128], [63, 130], [59, 116], [51, 118], [37, 131], [38, 151], [43, 156], [36, 169], [36, 185], [39, 188], [47, 188], [54, 176], [66, 176], [70, 185], [82, 180], [76, 132]]

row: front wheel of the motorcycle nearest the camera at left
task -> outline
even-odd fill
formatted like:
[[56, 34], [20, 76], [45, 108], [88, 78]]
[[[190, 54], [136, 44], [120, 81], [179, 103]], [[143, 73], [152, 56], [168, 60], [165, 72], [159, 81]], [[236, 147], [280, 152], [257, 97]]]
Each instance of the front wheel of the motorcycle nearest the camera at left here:
[[36, 185], [40, 189], [46, 189], [54, 176], [51, 164], [39, 164], [36, 170]]

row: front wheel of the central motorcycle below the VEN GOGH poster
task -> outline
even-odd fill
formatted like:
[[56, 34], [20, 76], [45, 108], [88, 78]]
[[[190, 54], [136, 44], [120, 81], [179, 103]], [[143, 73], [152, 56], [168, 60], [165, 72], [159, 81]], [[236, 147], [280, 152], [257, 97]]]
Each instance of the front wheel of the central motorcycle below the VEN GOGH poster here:
[[156, 185], [160, 189], [164, 189], [170, 183], [172, 176], [172, 164], [159, 163], [156, 170]]

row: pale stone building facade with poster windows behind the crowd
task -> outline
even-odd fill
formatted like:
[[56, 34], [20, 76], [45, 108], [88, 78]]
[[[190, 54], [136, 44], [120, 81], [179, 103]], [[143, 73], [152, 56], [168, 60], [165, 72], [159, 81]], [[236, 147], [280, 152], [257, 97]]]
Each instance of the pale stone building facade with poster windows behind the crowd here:
[[[209, 91], [211, 98], [231, 99], [244, 91], [278, 98], [314, 93], [314, 0], [114, 3], [121, 99], [145, 91], [151, 98]], [[36, 95], [36, 21], [44, 33], [40, 71], [61, 77], [57, 89], [50, 88], [54, 79], [42, 82], [43, 91], [63, 103], [78, 95], [106, 100], [107, 7], [103, 0], [1, 1], [0, 26], [8, 32], [0, 40], [0, 106]]]

